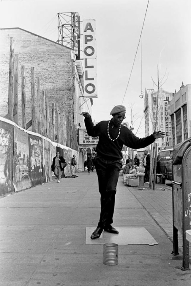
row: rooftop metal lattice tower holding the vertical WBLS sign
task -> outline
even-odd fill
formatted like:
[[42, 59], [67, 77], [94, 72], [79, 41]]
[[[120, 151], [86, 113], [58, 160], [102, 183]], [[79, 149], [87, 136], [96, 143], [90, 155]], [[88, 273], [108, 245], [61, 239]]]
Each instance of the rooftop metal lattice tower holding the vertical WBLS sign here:
[[80, 51], [80, 16], [78, 12], [58, 13], [58, 40], [63, 46], [74, 50], [76, 56]]

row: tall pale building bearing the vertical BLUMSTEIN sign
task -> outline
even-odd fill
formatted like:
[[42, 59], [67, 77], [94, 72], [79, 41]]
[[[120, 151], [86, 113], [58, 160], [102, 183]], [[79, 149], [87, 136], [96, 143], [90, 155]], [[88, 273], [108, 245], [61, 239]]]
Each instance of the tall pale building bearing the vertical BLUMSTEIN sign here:
[[170, 101], [173, 97], [171, 92], [162, 88], [145, 90], [144, 114], [145, 136], [149, 136], [154, 130], [165, 132], [165, 138], [156, 140], [158, 150], [172, 147]]

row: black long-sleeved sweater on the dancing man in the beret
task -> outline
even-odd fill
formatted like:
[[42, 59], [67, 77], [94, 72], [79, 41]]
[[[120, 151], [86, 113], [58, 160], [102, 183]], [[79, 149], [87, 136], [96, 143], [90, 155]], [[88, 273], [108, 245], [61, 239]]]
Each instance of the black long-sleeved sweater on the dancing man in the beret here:
[[[121, 125], [121, 132], [117, 140], [111, 141], [107, 128], [108, 121], [100, 121], [97, 125], [93, 125], [91, 117], [84, 119], [86, 130], [89, 136], [97, 137], [99, 136], [99, 141], [97, 143], [96, 152], [99, 156], [105, 158], [105, 160], [121, 160], [122, 153], [121, 150], [123, 145], [139, 149], [144, 148], [152, 144], [155, 140], [153, 135], [147, 136], [145, 138], [138, 138], [132, 131], [124, 125]], [[109, 134], [111, 139], [115, 139], [119, 133], [119, 127], [113, 126], [112, 120], [109, 124]]]

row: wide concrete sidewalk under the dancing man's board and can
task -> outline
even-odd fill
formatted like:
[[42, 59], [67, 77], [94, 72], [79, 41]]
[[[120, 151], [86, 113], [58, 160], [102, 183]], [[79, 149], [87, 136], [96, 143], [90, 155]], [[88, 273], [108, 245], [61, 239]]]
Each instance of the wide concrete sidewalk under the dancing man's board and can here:
[[96, 172], [0, 198], [0, 285], [190, 285], [182, 257], [171, 254], [171, 189], [145, 187], [124, 186], [119, 177], [113, 226], [144, 227], [158, 244], [119, 245], [113, 266], [103, 264], [103, 244], [85, 243], [86, 227], [100, 215]]

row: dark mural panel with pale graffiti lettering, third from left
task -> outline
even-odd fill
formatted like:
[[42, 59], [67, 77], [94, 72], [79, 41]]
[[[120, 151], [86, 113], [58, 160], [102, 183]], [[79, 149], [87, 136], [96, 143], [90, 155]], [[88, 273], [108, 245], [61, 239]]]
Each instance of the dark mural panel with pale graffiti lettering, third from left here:
[[29, 134], [29, 176], [32, 186], [42, 184], [42, 138]]

